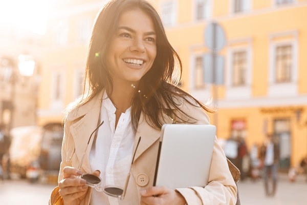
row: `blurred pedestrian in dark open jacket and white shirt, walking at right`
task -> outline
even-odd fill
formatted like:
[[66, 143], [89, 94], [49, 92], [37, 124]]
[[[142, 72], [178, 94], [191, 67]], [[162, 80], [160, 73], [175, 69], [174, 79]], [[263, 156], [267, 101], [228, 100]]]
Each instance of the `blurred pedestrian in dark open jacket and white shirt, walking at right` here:
[[[277, 186], [277, 174], [279, 163], [279, 146], [273, 135], [268, 134], [260, 148], [260, 158], [263, 165], [266, 196], [274, 196]], [[271, 182], [272, 181], [272, 188]]]

